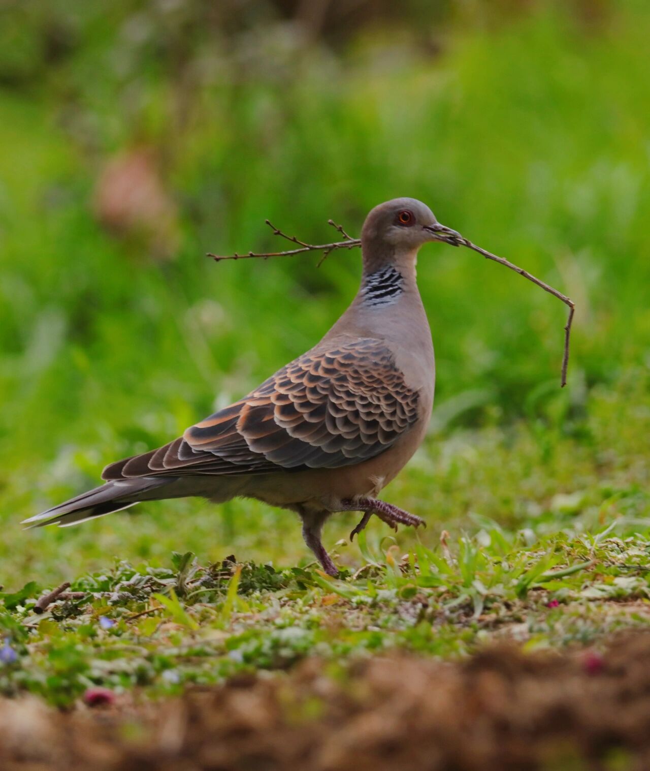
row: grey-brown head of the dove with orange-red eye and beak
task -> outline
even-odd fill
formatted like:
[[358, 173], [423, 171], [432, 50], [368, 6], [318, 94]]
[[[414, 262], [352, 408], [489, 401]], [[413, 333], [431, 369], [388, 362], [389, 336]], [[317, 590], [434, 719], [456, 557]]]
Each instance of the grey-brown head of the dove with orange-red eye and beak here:
[[361, 231], [366, 262], [414, 260], [427, 241], [458, 246], [461, 234], [441, 225], [431, 209], [415, 198], [394, 198], [370, 211]]

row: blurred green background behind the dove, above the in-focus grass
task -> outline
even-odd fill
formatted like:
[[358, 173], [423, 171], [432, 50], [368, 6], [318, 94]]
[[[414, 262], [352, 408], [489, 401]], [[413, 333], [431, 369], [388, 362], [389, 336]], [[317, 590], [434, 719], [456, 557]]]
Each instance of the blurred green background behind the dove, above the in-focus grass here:
[[246, 501], [18, 523], [299, 355], [360, 275], [357, 251], [206, 251], [278, 246], [266, 217], [357, 234], [403, 195], [578, 311], [561, 391], [565, 306], [425, 247], [437, 402], [387, 498], [447, 528], [647, 517], [648, 39], [642, 0], [2, 3], [0, 583], [173, 548], [307, 560], [292, 514]]

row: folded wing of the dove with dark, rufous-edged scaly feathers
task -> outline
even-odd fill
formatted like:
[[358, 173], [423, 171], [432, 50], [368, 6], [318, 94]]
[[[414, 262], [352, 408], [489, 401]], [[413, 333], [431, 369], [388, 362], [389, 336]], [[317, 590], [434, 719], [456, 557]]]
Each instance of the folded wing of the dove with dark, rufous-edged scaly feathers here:
[[361, 463], [417, 420], [418, 392], [374, 338], [319, 345], [174, 442], [107, 466], [104, 479], [251, 474]]

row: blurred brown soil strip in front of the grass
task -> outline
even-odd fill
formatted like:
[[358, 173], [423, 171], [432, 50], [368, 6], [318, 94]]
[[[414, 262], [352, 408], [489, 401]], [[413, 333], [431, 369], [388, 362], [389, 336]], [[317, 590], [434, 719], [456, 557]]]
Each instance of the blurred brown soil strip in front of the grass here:
[[311, 660], [158, 704], [0, 702], [3, 771], [650, 768], [650, 635], [600, 655]]

